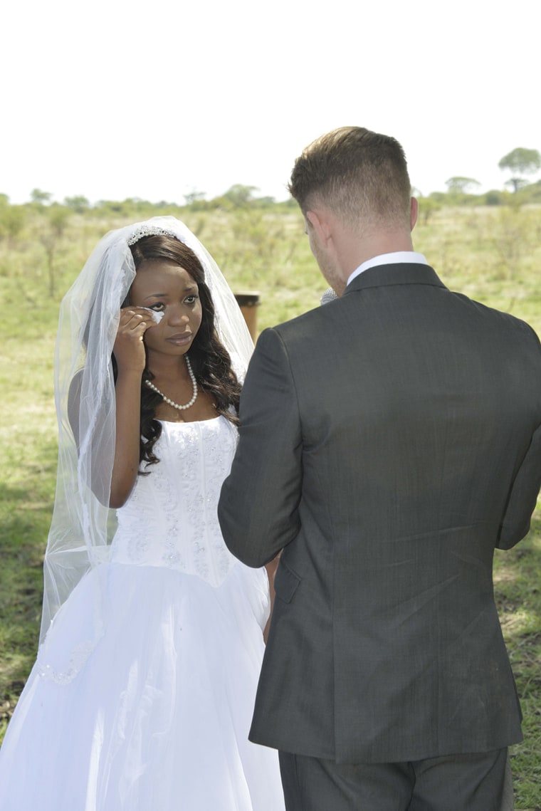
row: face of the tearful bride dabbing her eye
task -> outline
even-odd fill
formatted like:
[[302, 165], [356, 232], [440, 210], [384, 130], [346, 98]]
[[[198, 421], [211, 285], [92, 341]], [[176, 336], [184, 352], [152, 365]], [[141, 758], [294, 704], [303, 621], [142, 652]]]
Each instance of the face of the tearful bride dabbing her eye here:
[[148, 353], [185, 354], [201, 325], [203, 310], [190, 273], [168, 260], [146, 260], [131, 285], [132, 307], [148, 307], [163, 318], [144, 334]]

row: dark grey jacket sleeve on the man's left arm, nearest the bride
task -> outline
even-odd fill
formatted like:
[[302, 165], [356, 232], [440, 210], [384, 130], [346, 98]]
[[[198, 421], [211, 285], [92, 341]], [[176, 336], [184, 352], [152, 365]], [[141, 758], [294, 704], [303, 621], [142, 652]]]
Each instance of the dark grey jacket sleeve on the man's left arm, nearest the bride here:
[[295, 538], [302, 477], [290, 361], [281, 336], [267, 329], [248, 367], [237, 453], [218, 505], [225, 543], [243, 563], [262, 566]]

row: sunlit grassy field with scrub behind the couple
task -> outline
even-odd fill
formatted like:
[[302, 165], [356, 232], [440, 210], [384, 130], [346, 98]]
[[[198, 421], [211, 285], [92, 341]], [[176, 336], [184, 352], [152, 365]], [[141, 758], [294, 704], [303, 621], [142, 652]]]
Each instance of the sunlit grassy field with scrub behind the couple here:
[[[0, 736], [36, 652], [41, 564], [54, 501], [56, 424], [52, 367], [58, 304], [109, 228], [144, 219], [71, 214], [62, 228], [45, 209], [0, 241]], [[167, 213], [167, 212], [160, 212]], [[294, 210], [171, 212], [186, 221], [235, 292], [258, 290], [258, 328], [316, 307], [325, 289]], [[541, 335], [541, 210], [444, 208], [414, 234], [453, 290], [530, 322]], [[517, 809], [541, 805], [541, 513], [528, 539], [496, 553], [496, 597], [524, 712], [513, 747]]]

